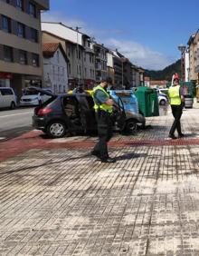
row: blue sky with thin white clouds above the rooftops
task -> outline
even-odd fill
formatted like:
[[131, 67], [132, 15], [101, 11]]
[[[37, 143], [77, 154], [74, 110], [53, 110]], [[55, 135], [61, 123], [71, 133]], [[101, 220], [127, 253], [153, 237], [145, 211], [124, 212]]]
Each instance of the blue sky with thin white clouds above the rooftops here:
[[62, 22], [118, 49], [134, 64], [162, 69], [199, 28], [198, 0], [50, 0], [43, 21]]

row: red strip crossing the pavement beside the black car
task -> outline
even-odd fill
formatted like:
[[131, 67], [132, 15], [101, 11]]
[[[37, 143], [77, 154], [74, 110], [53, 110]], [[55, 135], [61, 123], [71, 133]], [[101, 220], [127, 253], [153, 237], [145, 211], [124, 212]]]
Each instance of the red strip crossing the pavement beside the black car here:
[[[11, 139], [6, 142], [0, 143], [0, 162], [14, 157], [18, 154], [24, 153], [31, 149], [58, 149], [58, 148], [67, 148], [67, 149], [84, 149], [88, 150], [95, 144], [92, 141], [81, 141], [81, 142], [66, 142], [66, 143], [52, 143], [52, 139], [45, 139], [41, 136], [43, 133], [40, 131], [32, 131], [30, 133], [24, 133], [23, 135]], [[118, 142], [110, 142], [109, 146], [111, 147], [120, 147], [120, 146], [164, 146], [164, 145], [187, 145], [187, 144], [199, 144], [198, 139], [178, 139], [178, 140], [121, 140]]]

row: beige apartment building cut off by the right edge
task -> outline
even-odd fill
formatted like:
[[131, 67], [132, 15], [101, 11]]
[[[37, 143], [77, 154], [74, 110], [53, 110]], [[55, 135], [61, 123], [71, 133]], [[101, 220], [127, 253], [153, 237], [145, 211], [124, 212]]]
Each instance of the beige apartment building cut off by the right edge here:
[[189, 79], [199, 82], [199, 31], [192, 34], [188, 41], [189, 51]]

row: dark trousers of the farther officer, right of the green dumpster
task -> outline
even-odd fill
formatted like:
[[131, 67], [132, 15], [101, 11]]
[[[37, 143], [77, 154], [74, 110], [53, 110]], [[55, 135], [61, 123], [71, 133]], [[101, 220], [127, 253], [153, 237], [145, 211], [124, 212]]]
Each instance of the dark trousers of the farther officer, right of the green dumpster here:
[[171, 126], [171, 130], [170, 130], [169, 134], [174, 135], [175, 129], [177, 129], [178, 134], [182, 134], [180, 118], [181, 118], [181, 115], [183, 113], [183, 106], [182, 106], [182, 104], [180, 104], [180, 105], [171, 105], [171, 109], [172, 109], [172, 113], [173, 113], [173, 116], [175, 118], [175, 121]]

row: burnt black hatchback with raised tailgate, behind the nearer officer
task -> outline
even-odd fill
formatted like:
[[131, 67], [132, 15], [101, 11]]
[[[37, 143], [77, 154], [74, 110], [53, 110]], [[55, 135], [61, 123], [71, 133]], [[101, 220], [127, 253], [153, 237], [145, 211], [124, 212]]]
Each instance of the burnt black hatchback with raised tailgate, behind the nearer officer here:
[[[52, 97], [34, 109], [35, 129], [42, 130], [52, 138], [61, 138], [66, 133], [97, 133], [94, 102], [90, 94], [45, 94]], [[114, 110], [114, 126], [119, 131], [130, 132], [135, 127], [135, 121], [127, 117], [119, 105], [122, 103]]]

